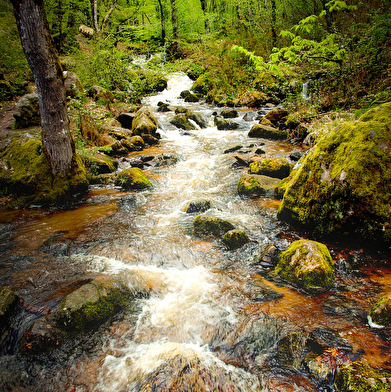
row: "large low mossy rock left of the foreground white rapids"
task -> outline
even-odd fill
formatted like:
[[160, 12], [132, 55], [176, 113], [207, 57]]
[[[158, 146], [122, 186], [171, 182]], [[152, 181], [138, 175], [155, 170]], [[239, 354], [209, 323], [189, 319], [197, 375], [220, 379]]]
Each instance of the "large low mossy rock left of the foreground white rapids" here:
[[134, 296], [121, 280], [97, 278], [68, 294], [48, 323], [69, 334], [93, 329], [132, 305]]

